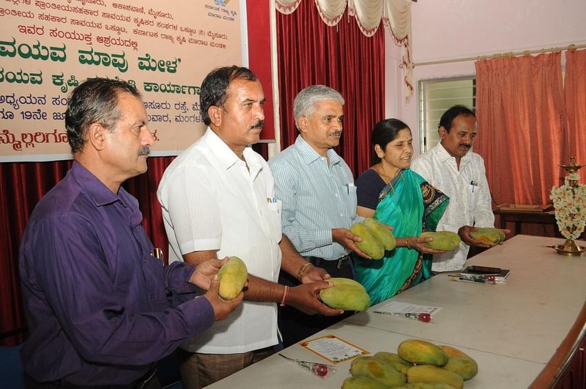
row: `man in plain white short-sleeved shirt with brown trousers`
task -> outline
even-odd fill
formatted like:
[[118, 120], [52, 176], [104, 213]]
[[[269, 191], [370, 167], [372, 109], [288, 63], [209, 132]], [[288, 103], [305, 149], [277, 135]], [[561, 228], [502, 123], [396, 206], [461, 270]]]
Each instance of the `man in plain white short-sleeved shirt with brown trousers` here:
[[[201, 114], [209, 128], [165, 170], [157, 196], [170, 261], [200, 263], [236, 255], [249, 278], [245, 302], [228, 320], [184, 343], [184, 388], [200, 388], [272, 353], [279, 343], [276, 303], [310, 315], [340, 315], [318, 299], [330, 286], [323, 268], [307, 267], [281, 234], [281, 203], [266, 161], [249, 146], [259, 141], [265, 97], [247, 68], [212, 70], [201, 83]], [[276, 283], [279, 271], [303, 283]], [[314, 282], [315, 281], [315, 282]]]

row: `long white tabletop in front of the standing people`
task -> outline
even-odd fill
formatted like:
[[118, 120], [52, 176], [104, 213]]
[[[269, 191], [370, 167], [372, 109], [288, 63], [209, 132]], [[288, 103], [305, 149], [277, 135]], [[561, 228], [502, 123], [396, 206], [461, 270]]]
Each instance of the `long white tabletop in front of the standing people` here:
[[[558, 243], [563, 239], [517, 235], [467, 261], [510, 269], [503, 284], [456, 282], [442, 274], [392, 298], [441, 307], [431, 323], [381, 315], [373, 306], [312, 338], [334, 334], [372, 354], [396, 352], [405, 339], [426, 339], [476, 359], [478, 375], [466, 381], [465, 388], [527, 388], [547, 366], [586, 301], [586, 257], [558, 255], [545, 247]], [[282, 353], [325, 363], [299, 345]], [[350, 361], [339, 363], [335, 375], [321, 379], [272, 355], [209, 388], [340, 388], [350, 377], [349, 366]]]

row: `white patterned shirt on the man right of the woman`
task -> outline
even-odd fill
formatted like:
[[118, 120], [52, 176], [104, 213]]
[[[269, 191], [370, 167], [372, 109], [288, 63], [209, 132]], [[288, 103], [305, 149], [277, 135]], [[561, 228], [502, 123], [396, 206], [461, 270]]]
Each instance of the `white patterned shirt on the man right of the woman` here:
[[[447, 194], [449, 205], [438, 223], [438, 231], [458, 232], [462, 226], [494, 227], [491, 196], [482, 157], [469, 151], [460, 160], [452, 157], [441, 143], [419, 155], [411, 163], [412, 170]], [[432, 270], [461, 270], [469, 246], [461, 242], [454, 251], [434, 255]]]

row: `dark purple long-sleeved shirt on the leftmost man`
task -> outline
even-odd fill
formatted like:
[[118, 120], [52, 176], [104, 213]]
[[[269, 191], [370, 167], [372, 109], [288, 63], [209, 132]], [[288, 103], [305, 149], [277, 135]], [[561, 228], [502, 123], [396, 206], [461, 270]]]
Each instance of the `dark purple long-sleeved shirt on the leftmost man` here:
[[211, 326], [205, 298], [191, 292], [194, 266], [163, 266], [141, 225], [138, 201], [112, 193], [74, 162], [34, 208], [19, 270], [30, 335], [21, 357], [35, 381], [125, 384]]

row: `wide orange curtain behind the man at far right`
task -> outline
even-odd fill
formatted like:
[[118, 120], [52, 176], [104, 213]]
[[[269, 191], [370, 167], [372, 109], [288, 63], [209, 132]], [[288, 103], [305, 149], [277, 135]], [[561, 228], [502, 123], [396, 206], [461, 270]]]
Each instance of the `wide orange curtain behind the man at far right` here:
[[494, 201], [551, 203], [562, 183], [565, 117], [561, 53], [476, 62], [476, 152]]

